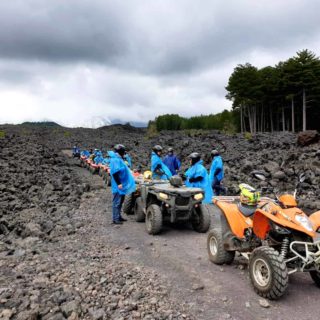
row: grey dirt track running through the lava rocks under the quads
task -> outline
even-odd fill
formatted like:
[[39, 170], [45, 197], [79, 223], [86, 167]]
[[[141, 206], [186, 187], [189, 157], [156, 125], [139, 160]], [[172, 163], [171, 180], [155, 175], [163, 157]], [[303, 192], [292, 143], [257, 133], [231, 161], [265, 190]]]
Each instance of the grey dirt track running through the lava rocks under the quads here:
[[[144, 223], [133, 217], [123, 226], [111, 221], [110, 190], [105, 190], [100, 177], [79, 168], [95, 189], [88, 198], [94, 218], [87, 217], [97, 236], [106, 237], [120, 246], [121, 257], [134, 264], [156, 271], [170, 283], [170, 298], [186, 303], [197, 319], [317, 319], [319, 289], [308, 274], [290, 277], [288, 293], [269, 308], [259, 305], [260, 297], [251, 288], [246, 261], [237, 257], [231, 266], [216, 266], [208, 261], [206, 235], [188, 227], [166, 226], [159, 236], [150, 236]], [[214, 224], [216, 217], [212, 217]], [[106, 243], [106, 245], [108, 245]]]

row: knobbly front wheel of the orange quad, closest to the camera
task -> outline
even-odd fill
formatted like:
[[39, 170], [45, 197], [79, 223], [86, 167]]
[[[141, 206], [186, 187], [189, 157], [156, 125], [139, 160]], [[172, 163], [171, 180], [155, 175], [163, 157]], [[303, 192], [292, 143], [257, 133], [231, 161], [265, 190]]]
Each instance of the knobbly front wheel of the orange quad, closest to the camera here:
[[276, 300], [287, 290], [288, 269], [279, 253], [270, 247], [253, 250], [249, 274], [254, 290], [263, 298]]

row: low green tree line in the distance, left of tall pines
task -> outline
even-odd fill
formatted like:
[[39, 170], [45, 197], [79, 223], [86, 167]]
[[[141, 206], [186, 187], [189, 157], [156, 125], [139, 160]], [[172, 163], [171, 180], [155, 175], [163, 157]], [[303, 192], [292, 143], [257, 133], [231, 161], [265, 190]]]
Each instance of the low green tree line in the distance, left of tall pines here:
[[149, 123], [155, 125], [158, 131], [161, 130], [187, 130], [187, 129], [204, 129], [204, 130], [223, 130], [238, 131], [237, 110], [224, 110], [218, 114], [200, 115], [191, 118], [180, 117], [177, 114], [165, 114], [158, 116], [154, 121]]

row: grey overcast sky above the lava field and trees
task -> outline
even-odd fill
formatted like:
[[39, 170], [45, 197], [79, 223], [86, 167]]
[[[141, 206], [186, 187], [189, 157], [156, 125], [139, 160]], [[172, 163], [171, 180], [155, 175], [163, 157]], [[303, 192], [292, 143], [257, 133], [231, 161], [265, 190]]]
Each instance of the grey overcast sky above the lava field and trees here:
[[0, 123], [230, 108], [233, 68], [320, 55], [317, 0], [2, 0]]

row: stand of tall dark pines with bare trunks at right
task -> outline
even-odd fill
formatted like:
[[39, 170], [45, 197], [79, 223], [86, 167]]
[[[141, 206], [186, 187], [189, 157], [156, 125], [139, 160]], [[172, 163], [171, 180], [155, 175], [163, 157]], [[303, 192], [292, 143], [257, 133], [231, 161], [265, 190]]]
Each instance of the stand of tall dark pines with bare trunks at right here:
[[276, 66], [238, 65], [226, 87], [241, 132], [319, 129], [320, 59], [309, 50]]

